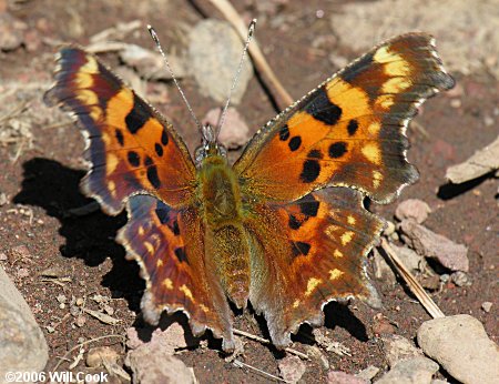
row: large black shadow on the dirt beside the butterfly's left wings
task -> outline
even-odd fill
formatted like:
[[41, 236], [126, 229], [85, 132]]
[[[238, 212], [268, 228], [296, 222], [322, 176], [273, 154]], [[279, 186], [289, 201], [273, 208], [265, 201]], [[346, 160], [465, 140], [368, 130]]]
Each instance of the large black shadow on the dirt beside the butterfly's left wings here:
[[22, 166], [22, 190], [13, 202], [40, 206], [59, 220], [59, 233], [65, 238], [65, 244], [60, 246], [62, 256], [82, 259], [89, 266], [99, 266], [110, 257], [112, 267], [103, 276], [102, 285], [111, 291], [112, 297], [125, 299], [131, 311], [140, 311], [145, 286], [139, 276], [139, 266], [126, 261], [123, 247], [114, 242], [126, 215], [109, 216], [100, 209], [83, 214], [72, 213], [72, 210], [93, 202], [80, 193], [83, 171], [43, 158], [31, 159]]

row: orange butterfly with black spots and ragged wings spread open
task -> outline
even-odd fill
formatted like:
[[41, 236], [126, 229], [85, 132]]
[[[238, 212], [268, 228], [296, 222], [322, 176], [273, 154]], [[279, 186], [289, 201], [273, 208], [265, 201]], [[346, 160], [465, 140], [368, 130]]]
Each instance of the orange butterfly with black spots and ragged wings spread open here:
[[271, 120], [233, 165], [214, 134], [193, 160], [167, 120], [79, 48], [60, 51], [48, 97], [86, 138], [83, 193], [110, 215], [126, 208], [116, 241], [146, 282], [144, 319], [183, 311], [194, 335], [210, 329], [232, 351], [230, 302], [263, 314], [278, 348], [301, 324], [322, 325], [330, 301], [379, 305], [366, 256], [384, 221], [364, 200], [391, 202], [417, 180], [406, 128], [452, 87], [431, 37], [396, 37]]

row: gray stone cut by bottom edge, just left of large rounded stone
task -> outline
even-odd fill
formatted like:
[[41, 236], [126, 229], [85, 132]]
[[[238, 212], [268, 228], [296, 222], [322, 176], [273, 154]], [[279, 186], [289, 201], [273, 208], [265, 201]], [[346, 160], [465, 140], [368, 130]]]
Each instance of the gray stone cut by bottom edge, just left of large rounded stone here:
[[386, 373], [376, 384], [429, 384], [438, 371], [438, 364], [427, 357], [403, 360]]

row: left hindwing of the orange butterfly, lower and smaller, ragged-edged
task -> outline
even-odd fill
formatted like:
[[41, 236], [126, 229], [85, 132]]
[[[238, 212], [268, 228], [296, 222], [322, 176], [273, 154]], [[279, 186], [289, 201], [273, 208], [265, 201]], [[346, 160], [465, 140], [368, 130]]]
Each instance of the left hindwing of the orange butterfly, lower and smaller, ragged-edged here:
[[204, 230], [197, 210], [172, 209], [150, 195], [128, 202], [129, 222], [116, 240], [146, 281], [144, 317], [156, 324], [161, 312], [186, 312], [194, 335], [206, 327], [233, 350], [232, 320], [225, 294], [204, 257]]

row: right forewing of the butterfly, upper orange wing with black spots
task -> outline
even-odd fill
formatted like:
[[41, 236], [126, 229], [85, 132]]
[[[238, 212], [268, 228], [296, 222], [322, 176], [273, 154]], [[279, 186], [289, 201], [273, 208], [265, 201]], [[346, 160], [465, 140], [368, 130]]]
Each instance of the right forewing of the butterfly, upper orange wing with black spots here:
[[350, 186], [378, 202], [417, 179], [405, 129], [417, 107], [454, 80], [432, 39], [410, 33], [354, 61], [267, 123], [234, 164], [243, 193], [294, 201]]

